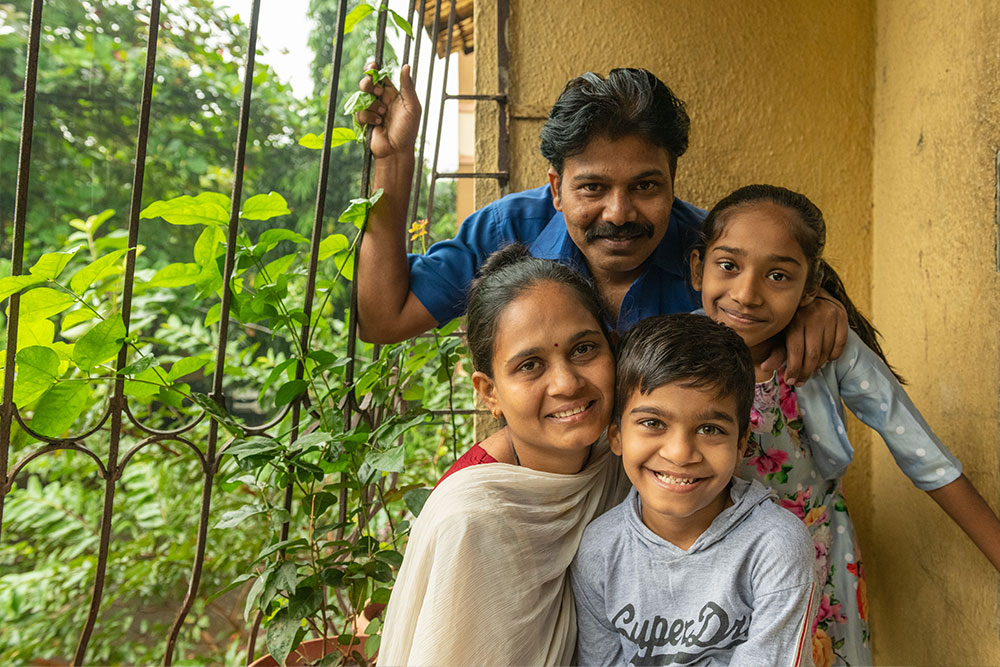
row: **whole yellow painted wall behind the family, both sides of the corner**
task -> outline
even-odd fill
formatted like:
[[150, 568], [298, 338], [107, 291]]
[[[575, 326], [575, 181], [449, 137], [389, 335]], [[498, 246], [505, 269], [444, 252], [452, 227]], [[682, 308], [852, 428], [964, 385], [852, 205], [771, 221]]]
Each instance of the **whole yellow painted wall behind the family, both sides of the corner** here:
[[[479, 92], [496, 92], [495, 31], [495, 3], [477, 0]], [[812, 198], [828, 260], [996, 508], [1000, 3], [510, 0], [507, 35], [511, 191], [545, 182], [538, 133], [568, 79], [652, 70], [692, 118], [678, 196], [711, 206], [770, 182]], [[476, 113], [477, 168], [492, 170], [496, 116]], [[477, 184], [478, 205], [497, 194]], [[1000, 664], [996, 573], [880, 440], [850, 432], [877, 662]]]

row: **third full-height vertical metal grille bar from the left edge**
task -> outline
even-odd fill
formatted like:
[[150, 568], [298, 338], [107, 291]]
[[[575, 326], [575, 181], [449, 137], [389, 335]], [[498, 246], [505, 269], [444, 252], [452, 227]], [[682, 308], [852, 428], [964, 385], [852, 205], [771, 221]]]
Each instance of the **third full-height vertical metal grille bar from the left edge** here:
[[[226, 241], [226, 258], [222, 274], [222, 304], [219, 317], [218, 347], [215, 354], [215, 370], [212, 375], [212, 393], [210, 397], [219, 405], [224, 405], [222, 392], [223, 373], [226, 367], [226, 343], [229, 339], [229, 312], [232, 307], [232, 278], [236, 267], [236, 240], [239, 235], [240, 205], [243, 200], [243, 168], [246, 164], [247, 134], [250, 129], [250, 103], [253, 94], [253, 73], [257, 54], [257, 25], [260, 20], [260, 0], [254, 0], [250, 15], [250, 40], [247, 43], [247, 58], [243, 72], [243, 99], [240, 104], [240, 124], [237, 130], [236, 158], [233, 166], [233, 193], [229, 210], [229, 236]], [[205, 562], [205, 544], [208, 536], [208, 516], [212, 501], [212, 479], [218, 469], [216, 449], [219, 442], [219, 424], [214, 419], [209, 424], [207, 462], [204, 470], [204, 486], [201, 495], [201, 518], [198, 521], [198, 542], [195, 548], [195, 560], [191, 567], [191, 579], [188, 582], [187, 595], [177, 612], [177, 618], [170, 628], [167, 638], [167, 649], [163, 656], [163, 664], [169, 666], [173, 662], [174, 647], [180, 634], [181, 626], [194, 604], [198, 585], [201, 582], [201, 570]]]

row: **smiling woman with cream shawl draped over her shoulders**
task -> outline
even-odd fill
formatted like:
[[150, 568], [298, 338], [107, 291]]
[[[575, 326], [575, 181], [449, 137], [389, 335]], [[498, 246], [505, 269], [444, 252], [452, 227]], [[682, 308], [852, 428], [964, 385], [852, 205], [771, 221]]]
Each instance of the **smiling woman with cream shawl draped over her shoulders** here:
[[414, 523], [379, 664], [572, 659], [566, 570], [584, 527], [627, 488], [598, 442], [614, 394], [602, 315], [583, 278], [522, 245], [483, 266], [468, 299], [472, 379], [505, 425], [456, 462]]

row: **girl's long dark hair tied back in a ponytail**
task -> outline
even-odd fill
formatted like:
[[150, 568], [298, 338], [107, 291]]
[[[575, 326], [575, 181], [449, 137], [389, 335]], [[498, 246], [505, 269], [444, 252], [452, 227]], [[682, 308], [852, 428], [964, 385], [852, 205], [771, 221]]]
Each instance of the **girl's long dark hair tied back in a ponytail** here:
[[[732, 194], [724, 197], [716, 204], [701, 223], [699, 240], [694, 252], [704, 260], [705, 250], [722, 234], [729, 214], [734, 210], [752, 206], [761, 202], [769, 202], [794, 211], [802, 224], [794, 225], [792, 233], [802, 254], [806, 256], [809, 272], [806, 276], [806, 289], [822, 287], [830, 296], [839, 301], [847, 310], [847, 323], [865, 345], [870, 347], [882, 361], [889, 366], [882, 346], [878, 342], [879, 332], [868, 319], [861, 314], [844, 289], [844, 283], [833, 267], [823, 259], [823, 248], [826, 246], [826, 221], [823, 212], [803, 194], [782, 188], [777, 185], [746, 185]], [[896, 379], [902, 384], [903, 378], [889, 366]]]

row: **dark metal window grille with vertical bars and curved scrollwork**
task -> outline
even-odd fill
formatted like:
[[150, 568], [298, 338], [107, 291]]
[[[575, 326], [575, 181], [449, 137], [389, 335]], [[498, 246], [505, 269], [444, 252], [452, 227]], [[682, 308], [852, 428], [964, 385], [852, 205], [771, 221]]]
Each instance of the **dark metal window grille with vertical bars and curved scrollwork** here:
[[[383, 2], [384, 5], [384, 2]], [[439, 26], [442, 21], [442, 16], [447, 17], [447, 31], [446, 31], [446, 44], [444, 47], [444, 54], [450, 54], [452, 51], [452, 41], [453, 36], [457, 33], [461, 35], [461, 29], [456, 25], [456, 4], [455, 0], [427, 0], [427, 2], [421, 1], [419, 6], [416, 6], [416, 0], [410, 0], [409, 4], [409, 16], [407, 17], [411, 24], [416, 26], [424, 26], [425, 23], [431, 24], [430, 34], [432, 36], [437, 36], [439, 34]], [[126, 255], [125, 262], [125, 279], [124, 288], [121, 298], [121, 313], [126, 328], [130, 326], [130, 315], [133, 305], [133, 287], [135, 280], [135, 270], [136, 270], [136, 251], [135, 248], [137, 244], [141, 241], [141, 230], [139, 224], [139, 214], [141, 211], [142, 202], [142, 190], [143, 182], [145, 177], [145, 167], [146, 167], [146, 152], [147, 145], [149, 143], [149, 129], [151, 122], [151, 109], [153, 108], [153, 85], [156, 75], [156, 62], [157, 62], [157, 41], [160, 29], [160, 0], [151, 0], [149, 8], [149, 35], [148, 43], [146, 47], [146, 59], [145, 59], [145, 74], [143, 78], [142, 93], [139, 107], [139, 117], [138, 117], [138, 132], [135, 143], [135, 168], [132, 179], [131, 187], [131, 203], [128, 213], [128, 248], [131, 250]], [[505, 43], [505, 29], [506, 29], [506, 18], [507, 18], [507, 2], [506, 0], [498, 0], [496, 3], [497, 17], [498, 17], [498, 46], [499, 46], [499, 67], [500, 72], [498, 76], [499, 88], [498, 93], [494, 95], [452, 95], [445, 91], [445, 85], [440, 86], [440, 99], [442, 104], [441, 115], [438, 118], [436, 139], [435, 139], [435, 150], [434, 158], [431, 167], [431, 178], [429, 184], [429, 191], [427, 196], [427, 205], [425, 217], [430, 218], [433, 206], [434, 206], [434, 195], [435, 195], [435, 184], [440, 179], [449, 178], [493, 178], [496, 179], [501, 187], [506, 187], [508, 180], [508, 161], [509, 152], [507, 146], [507, 98], [505, 94], [505, 81], [506, 81], [506, 65], [507, 65], [507, 48]], [[22, 109], [21, 118], [21, 136], [20, 136], [20, 152], [18, 161], [18, 174], [17, 174], [17, 184], [15, 193], [15, 206], [14, 206], [14, 218], [13, 218], [13, 229], [10, 238], [12, 239], [12, 254], [11, 254], [11, 276], [21, 276], [24, 275], [24, 251], [25, 251], [25, 240], [30, 230], [26, 229], [26, 209], [28, 203], [28, 188], [31, 178], [31, 157], [32, 157], [32, 138], [33, 129], [35, 121], [35, 105], [38, 99], [38, 94], [36, 90], [36, 82], [38, 75], [38, 63], [39, 63], [39, 53], [42, 48], [40, 35], [42, 27], [42, 14], [45, 9], [44, 0], [33, 0], [31, 5], [31, 15], [30, 15], [30, 28], [29, 28], [29, 39], [27, 48], [27, 67], [24, 82], [24, 102]], [[424, 17], [427, 12], [433, 12], [433, 21], [425, 22]], [[414, 16], [416, 14], [416, 16]], [[212, 374], [211, 383], [211, 393], [210, 398], [219, 404], [223, 404], [225, 396], [223, 392], [223, 380], [226, 370], [226, 345], [230, 336], [229, 327], [229, 314], [232, 307], [232, 292], [230, 288], [230, 281], [233, 277], [234, 267], [236, 263], [236, 240], [238, 232], [238, 218], [239, 210], [243, 195], [243, 171], [246, 161], [247, 154], [247, 141], [248, 141], [248, 127], [249, 119], [251, 113], [251, 100], [254, 93], [254, 67], [255, 58], [257, 55], [257, 28], [258, 20], [260, 15], [260, 0], [253, 0], [252, 13], [250, 19], [250, 29], [249, 29], [249, 41], [246, 47], [246, 61], [244, 64], [244, 74], [243, 74], [243, 88], [241, 93], [240, 101], [240, 117], [238, 132], [236, 137], [236, 154], [234, 160], [234, 170], [233, 170], [233, 189], [231, 197], [232, 209], [230, 211], [230, 224], [228, 227], [228, 243], [226, 245], [226, 254], [224, 259], [223, 268], [223, 291], [222, 291], [222, 302], [221, 302], [221, 316], [219, 319], [219, 329], [218, 329], [218, 339], [215, 347], [215, 363], [214, 371]], [[319, 172], [319, 182], [317, 184], [316, 190], [316, 202], [315, 202], [315, 212], [313, 219], [312, 235], [310, 240], [310, 258], [308, 264], [308, 275], [307, 275], [307, 288], [306, 294], [312, 295], [316, 287], [316, 275], [318, 267], [318, 255], [319, 255], [319, 244], [321, 240], [321, 229], [322, 222], [327, 215], [327, 182], [331, 176], [330, 174], [330, 153], [331, 153], [331, 141], [330, 141], [330, 130], [334, 127], [334, 115], [335, 115], [335, 105], [337, 101], [338, 92], [338, 81], [340, 80], [340, 71], [342, 67], [342, 57], [343, 57], [343, 31], [344, 31], [344, 21], [347, 15], [347, 1], [341, 0], [338, 10], [338, 21], [339, 25], [337, 27], [338, 40], [333, 52], [332, 60], [332, 73], [329, 81], [328, 89], [328, 99], [329, 104], [326, 113], [326, 125], [325, 125], [325, 144], [322, 149], [320, 156], [320, 172]], [[416, 20], [414, 21], [414, 18]], [[380, 20], [377, 28], [377, 44], [376, 52], [377, 58], [381, 60], [382, 50], [385, 39], [385, 29], [386, 29], [386, 13], [380, 12]], [[406, 63], [411, 54], [411, 47], [413, 55], [413, 69], [414, 71], [418, 67], [418, 54], [420, 48], [420, 41], [424, 30], [419, 27], [416, 28], [416, 37], [414, 42], [411, 43], [409, 38], [406, 39], [404, 45], [404, 52], [402, 54], [402, 62]], [[467, 37], [467, 36], [465, 36]], [[434, 81], [434, 69], [436, 65], [437, 58], [431, 58], [430, 62], [426, 65], [428, 68], [427, 74], [427, 88], [425, 93], [425, 101], [429, 99], [434, 92], [433, 81]], [[444, 59], [444, 80], [448, 77], [449, 59]], [[443, 103], [451, 100], [477, 100], [477, 101], [487, 101], [496, 103], [499, 107], [500, 114], [500, 148], [498, 151], [498, 169], [495, 172], [488, 173], [442, 173], [437, 170], [437, 163], [440, 153], [441, 145], [441, 120], [443, 118]], [[421, 128], [421, 135], [419, 139], [419, 159], [418, 159], [418, 169], [416, 170], [414, 184], [413, 184], [413, 196], [412, 196], [412, 209], [411, 209], [411, 220], [417, 217], [417, 204], [420, 198], [421, 187], [423, 185], [423, 179], [421, 178], [421, 170], [419, 165], [423, 164], [423, 153], [424, 145], [426, 143], [427, 132], [428, 132], [428, 116], [425, 114], [423, 119], [423, 124]], [[369, 173], [371, 166], [371, 153], [365, 151], [364, 165], [362, 170], [362, 185], [361, 185], [361, 195], [367, 196], [369, 194]], [[363, 232], [362, 232], [363, 234]], [[40, 433], [35, 433], [31, 431], [30, 424], [26, 422], [24, 415], [22, 415], [18, 406], [14, 401], [14, 373], [12, 372], [15, 368], [15, 360], [18, 352], [17, 340], [18, 340], [18, 325], [21, 320], [21, 310], [20, 310], [21, 296], [19, 293], [15, 293], [10, 296], [8, 304], [8, 318], [7, 318], [7, 348], [5, 351], [5, 365], [4, 368], [8, 369], [8, 372], [4, 373], [3, 381], [3, 400], [0, 404], [0, 529], [3, 527], [3, 507], [4, 500], [7, 494], [10, 492], [12, 486], [18, 478], [18, 475], [25, 472], [29, 464], [37, 459], [38, 457], [43, 457], [53, 452], [59, 450], [75, 450], [83, 453], [93, 460], [96, 466], [96, 478], [99, 479], [99, 483], [103, 486], [103, 510], [99, 516], [92, 517], [95, 523], [99, 526], [99, 543], [98, 543], [98, 558], [96, 571], [93, 573], [93, 592], [91, 595], [91, 602], [89, 607], [89, 612], [86, 617], [86, 621], [83, 627], [80, 629], [79, 639], [77, 641], [77, 647], [75, 655], [73, 656], [73, 664], [79, 665], [86, 662], [88, 644], [91, 639], [92, 632], [95, 627], [95, 623], [98, 620], [99, 611], [101, 610], [102, 598], [105, 594], [105, 580], [107, 575], [107, 565], [108, 565], [108, 553], [112, 541], [112, 519], [114, 515], [114, 505], [115, 505], [115, 493], [119, 488], [122, 479], [122, 472], [125, 469], [129, 461], [135, 456], [135, 454], [141, 449], [148, 447], [150, 445], [171, 441], [175, 443], [180, 443], [184, 445], [184, 451], [194, 456], [201, 467], [202, 472], [202, 494], [200, 503], [200, 516], [198, 520], [197, 528], [197, 546], [195, 550], [195, 556], [193, 562], [191, 563], [191, 571], [189, 577], [189, 585], [187, 594], [184, 599], [177, 605], [176, 616], [172, 623], [169, 631], [169, 636], [166, 643], [166, 652], [163, 656], [163, 662], [165, 665], [172, 664], [174, 660], [174, 652], [176, 647], [176, 642], [178, 634], [181, 630], [182, 625], [185, 623], [185, 619], [194, 604], [195, 599], [198, 596], [205, 595], [205, 592], [200, 589], [200, 581], [203, 571], [203, 566], [205, 563], [206, 552], [210, 551], [212, 545], [209, 540], [208, 535], [208, 520], [209, 520], [209, 510], [211, 508], [211, 503], [213, 500], [213, 480], [219, 471], [220, 460], [225, 454], [225, 436], [219, 433], [219, 426], [216, 421], [211, 421], [209, 426], [209, 435], [207, 441], [204, 445], [199, 445], [198, 443], [188, 439], [186, 433], [188, 433], [194, 426], [205, 418], [206, 413], [203, 411], [201, 415], [195, 418], [193, 421], [188, 421], [186, 423], [173, 424], [168, 427], [163, 425], [151, 425], [145, 424], [140, 419], [137, 419], [133, 410], [130, 409], [129, 402], [124, 392], [125, 376], [122, 374], [122, 370], [126, 367], [126, 357], [127, 349], [126, 346], [122, 346], [118, 353], [115, 368], [117, 369], [117, 376], [114, 382], [114, 389], [110, 400], [106, 406], [104, 416], [99, 421], [97, 426], [89, 428], [86, 432], [74, 433], [73, 435], [66, 437], [49, 437]], [[303, 344], [309, 339], [310, 327], [309, 322], [311, 321], [311, 313], [313, 309], [312, 299], [307, 297], [304, 303], [305, 310], [305, 321], [306, 324], [302, 325], [301, 329], [301, 341]], [[358, 348], [356, 345], [356, 314], [357, 314], [357, 297], [356, 297], [356, 287], [352, 285], [352, 298], [351, 298], [351, 311], [350, 311], [350, 330], [348, 332], [348, 350], [349, 350], [349, 362], [347, 366], [347, 382], [353, 382], [354, 380], [354, 367], [358, 355]], [[297, 376], [302, 377], [302, 368], [298, 367]], [[296, 399], [292, 401], [288, 406], [286, 406], [280, 413], [272, 418], [265, 424], [259, 426], [247, 426], [244, 428], [246, 435], [253, 434], [266, 434], [272, 429], [276, 424], [285, 419], [289, 414], [291, 415], [292, 423], [292, 439], [294, 440], [299, 435], [299, 424], [301, 419], [301, 413], [303, 409], [307, 409], [304, 406], [301, 399]], [[345, 412], [345, 423], [350, 423], [354, 413], [358, 410], [358, 406], [353, 404], [353, 400], [348, 401], [344, 406], [343, 410]], [[470, 411], [466, 411], [470, 412]], [[132, 425], [140, 429], [146, 434], [146, 437], [142, 439], [137, 444], [133, 445], [127, 451], [122, 451], [121, 433], [123, 423], [126, 421], [131, 422]], [[16, 460], [11, 460], [11, 431], [12, 425], [14, 423], [19, 424], [19, 426], [26, 432], [30, 433], [32, 436], [37, 438], [39, 444], [34, 446], [30, 451], [19, 452], [18, 458]], [[108, 427], [105, 430], [105, 427]], [[91, 443], [97, 437], [109, 437], [110, 442], [106, 449], [106, 454], [103, 456], [98, 453]], [[103, 450], [102, 450], [103, 451]], [[343, 500], [343, 496], [341, 498]], [[285, 497], [286, 508], [291, 506], [292, 502], [292, 488], [289, 485], [288, 492]], [[345, 511], [343, 503], [341, 503], [341, 515]], [[283, 536], [287, 537], [288, 525], [286, 524], [283, 531]], [[0, 533], [0, 539], [2, 539], [2, 533]], [[249, 645], [247, 646], [247, 660], [251, 660], [255, 653], [256, 641], [257, 641], [257, 631], [261, 622], [261, 618], [258, 615], [254, 624], [252, 631], [250, 633]]]

